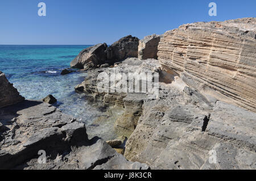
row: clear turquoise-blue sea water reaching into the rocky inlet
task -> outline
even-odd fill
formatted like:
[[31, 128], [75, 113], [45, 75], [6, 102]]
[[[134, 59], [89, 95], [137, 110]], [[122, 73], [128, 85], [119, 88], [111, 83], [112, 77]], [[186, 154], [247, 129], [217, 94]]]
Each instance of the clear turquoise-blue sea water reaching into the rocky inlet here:
[[[41, 100], [52, 94], [57, 99], [55, 106], [84, 122], [90, 137], [97, 135], [106, 140], [115, 137], [110, 129], [113, 117], [120, 112], [106, 115], [84, 94], [75, 92], [74, 87], [84, 81], [86, 73], [60, 75], [61, 70], [69, 68], [73, 58], [89, 46], [0, 45], [0, 71], [6, 74], [24, 98]], [[100, 116], [106, 119], [99, 119], [102, 118]], [[94, 124], [96, 119], [101, 120], [99, 124]]]

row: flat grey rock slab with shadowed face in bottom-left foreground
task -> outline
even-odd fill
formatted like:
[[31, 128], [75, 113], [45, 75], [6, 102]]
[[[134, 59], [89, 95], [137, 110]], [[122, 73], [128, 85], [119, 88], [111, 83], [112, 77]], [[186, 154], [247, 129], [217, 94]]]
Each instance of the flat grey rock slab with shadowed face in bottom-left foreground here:
[[0, 108], [0, 148], [0, 169], [149, 169], [98, 137], [89, 140], [83, 123], [41, 101]]

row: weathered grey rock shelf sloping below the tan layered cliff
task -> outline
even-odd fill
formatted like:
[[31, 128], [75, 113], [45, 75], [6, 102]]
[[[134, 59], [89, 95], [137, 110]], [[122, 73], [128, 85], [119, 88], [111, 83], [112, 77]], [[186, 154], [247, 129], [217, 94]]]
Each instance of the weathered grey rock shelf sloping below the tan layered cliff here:
[[[114, 125], [129, 137], [125, 157], [151, 169], [256, 169], [256, 113], [206, 97], [159, 67], [156, 60], [127, 58], [90, 71], [76, 87], [105, 105], [125, 106]], [[159, 96], [98, 92], [97, 75], [113, 70], [158, 72]]]

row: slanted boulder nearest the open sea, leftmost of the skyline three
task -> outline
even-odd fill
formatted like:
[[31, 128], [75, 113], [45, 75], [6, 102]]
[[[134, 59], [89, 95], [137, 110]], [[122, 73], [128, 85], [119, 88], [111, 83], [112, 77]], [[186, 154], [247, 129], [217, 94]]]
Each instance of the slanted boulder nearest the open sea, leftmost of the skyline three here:
[[82, 50], [79, 55], [71, 62], [72, 68], [84, 69], [89, 66], [89, 62], [94, 65], [104, 64], [106, 61], [105, 50], [108, 47], [105, 43], [97, 44]]

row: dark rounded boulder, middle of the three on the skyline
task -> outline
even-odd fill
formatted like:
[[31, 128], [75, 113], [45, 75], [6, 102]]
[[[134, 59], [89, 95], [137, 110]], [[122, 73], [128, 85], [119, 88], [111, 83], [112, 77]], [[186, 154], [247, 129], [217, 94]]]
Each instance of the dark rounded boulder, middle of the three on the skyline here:
[[110, 64], [125, 60], [128, 57], [138, 57], [139, 39], [131, 35], [122, 37], [106, 49], [106, 56]]

